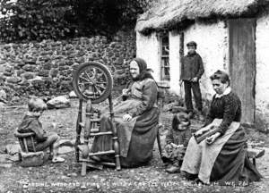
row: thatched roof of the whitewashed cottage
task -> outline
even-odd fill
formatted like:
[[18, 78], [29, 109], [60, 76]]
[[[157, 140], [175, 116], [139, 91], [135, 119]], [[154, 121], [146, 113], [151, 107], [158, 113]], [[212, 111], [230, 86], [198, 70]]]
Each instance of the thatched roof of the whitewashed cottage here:
[[171, 29], [196, 19], [244, 16], [268, 3], [269, 0], [161, 0], [139, 17], [135, 30], [143, 33]]

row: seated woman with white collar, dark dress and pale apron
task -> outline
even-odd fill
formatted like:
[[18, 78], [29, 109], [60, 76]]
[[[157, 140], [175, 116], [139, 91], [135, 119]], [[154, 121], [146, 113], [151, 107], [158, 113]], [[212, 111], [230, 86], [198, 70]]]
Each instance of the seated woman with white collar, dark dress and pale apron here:
[[[246, 185], [262, 176], [247, 157], [247, 138], [240, 126], [241, 102], [230, 90], [230, 79], [224, 71], [216, 71], [210, 77], [216, 95], [206, 117], [205, 126], [221, 119], [217, 132], [197, 144], [192, 137], [181, 171], [197, 183], [220, 185]], [[207, 127], [208, 128], [208, 127]]]

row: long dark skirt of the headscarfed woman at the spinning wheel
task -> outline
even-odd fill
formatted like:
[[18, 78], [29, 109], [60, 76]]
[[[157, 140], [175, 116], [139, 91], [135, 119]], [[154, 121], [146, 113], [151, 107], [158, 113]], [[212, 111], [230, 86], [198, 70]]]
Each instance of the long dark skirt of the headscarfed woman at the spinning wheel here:
[[[158, 124], [159, 110], [152, 108], [138, 116], [134, 124], [131, 141], [128, 147], [126, 157], [120, 156], [120, 164], [123, 167], [135, 167], [147, 164], [152, 159], [152, 150], [154, 141], [157, 137], [157, 124]], [[108, 120], [101, 122], [101, 131], [111, 130]], [[118, 133], [119, 141], [121, 135]], [[119, 144], [122, 147], [122, 144]], [[91, 148], [92, 152], [106, 151], [112, 148], [112, 140], [110, 136], [100, 136], [95, 138]], [[103, 161], [113, 161], [115, 156], [103, 155], [100, 156]]]

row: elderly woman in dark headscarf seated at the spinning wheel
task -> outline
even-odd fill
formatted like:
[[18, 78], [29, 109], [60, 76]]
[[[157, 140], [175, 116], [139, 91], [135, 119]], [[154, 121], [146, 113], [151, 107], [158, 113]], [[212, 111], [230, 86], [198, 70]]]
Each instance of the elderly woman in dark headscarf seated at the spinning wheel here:
[[[133, 59], [130, 63], [130, 75], [132, 81], [123, 90], [123, 101], [114, 106], [120, 161], [125, 167], [139, 166], [151, 160], [159, 116], [158, 87], [143, 59]], [[111, 130], [108, 110], [102, 112], [100, 131]], [[94, 138], [91, 152], [106, 151], [111, 147], [111, 139], [100, 136]], [[113, 157], [99, 158], [110, 161]]]

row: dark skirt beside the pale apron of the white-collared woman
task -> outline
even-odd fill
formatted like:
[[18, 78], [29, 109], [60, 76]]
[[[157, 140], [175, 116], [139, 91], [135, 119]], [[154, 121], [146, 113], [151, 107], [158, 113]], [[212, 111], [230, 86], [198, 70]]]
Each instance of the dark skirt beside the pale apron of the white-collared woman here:
[[246, 133], [240, 126], [221, 148], [213, 164], [210, 181], [218, 181], [221, 185], [247, 185], [261, 178], [256, 166], [247, 157]]

